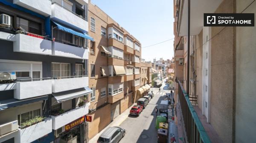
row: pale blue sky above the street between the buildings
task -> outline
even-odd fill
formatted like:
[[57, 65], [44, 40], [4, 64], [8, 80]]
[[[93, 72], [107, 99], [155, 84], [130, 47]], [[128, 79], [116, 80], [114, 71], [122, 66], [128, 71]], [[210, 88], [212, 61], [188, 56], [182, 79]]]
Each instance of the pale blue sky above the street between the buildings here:
[[[166, 41], [173, 35], [173, 0], [92, 0], [129, 31], [142, 47]], [[142, 48], [142, 58], [172, 59], [173, 40]]]

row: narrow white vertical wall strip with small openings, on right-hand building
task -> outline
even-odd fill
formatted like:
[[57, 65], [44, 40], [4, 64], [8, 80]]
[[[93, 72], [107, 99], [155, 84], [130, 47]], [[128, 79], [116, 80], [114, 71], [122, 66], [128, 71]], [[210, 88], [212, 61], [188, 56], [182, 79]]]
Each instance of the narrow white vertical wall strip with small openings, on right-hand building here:
[[210, 27], [203, 28], [203, 72], [202, 72], [202, 114], [207, 118], [207, 122], [210, 122], [210, 71], [211, 71], [211, 41], [210, 39], [211, 29]]

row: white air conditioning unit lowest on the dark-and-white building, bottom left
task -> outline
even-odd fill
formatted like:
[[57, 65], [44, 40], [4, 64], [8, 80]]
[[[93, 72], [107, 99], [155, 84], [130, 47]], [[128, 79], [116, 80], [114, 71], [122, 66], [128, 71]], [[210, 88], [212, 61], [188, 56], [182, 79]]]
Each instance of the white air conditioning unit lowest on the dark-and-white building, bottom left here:
[[12, 121], [9, 123], [5, 123], [0, 125], [0, 136], [5, 135], [9, 132], [13, 132], [18, 129], [18, 121]]

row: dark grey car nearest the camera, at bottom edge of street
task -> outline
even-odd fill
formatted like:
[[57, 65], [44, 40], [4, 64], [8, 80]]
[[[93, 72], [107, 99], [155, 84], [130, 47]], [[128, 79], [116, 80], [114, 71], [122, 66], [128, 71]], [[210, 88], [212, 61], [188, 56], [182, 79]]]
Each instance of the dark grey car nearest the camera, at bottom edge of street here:
[[120, 126], [108, 127], [100, 136], [97, 143], [118, 143], [125, 136], [125, 129]]

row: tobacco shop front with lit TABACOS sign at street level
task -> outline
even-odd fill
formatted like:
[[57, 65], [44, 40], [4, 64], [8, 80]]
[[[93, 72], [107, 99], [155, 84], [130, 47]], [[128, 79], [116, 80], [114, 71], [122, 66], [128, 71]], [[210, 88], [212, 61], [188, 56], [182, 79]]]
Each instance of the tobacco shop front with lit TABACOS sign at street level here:
[[[87, 140], [86, 128], [85, 117], [78, 118], [62, 128], [55, 130], [54, 143], [84, 143]], [[61, 133], [58, 134], [58, 132]]]

